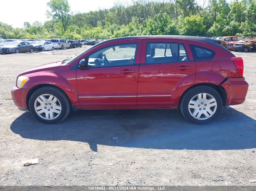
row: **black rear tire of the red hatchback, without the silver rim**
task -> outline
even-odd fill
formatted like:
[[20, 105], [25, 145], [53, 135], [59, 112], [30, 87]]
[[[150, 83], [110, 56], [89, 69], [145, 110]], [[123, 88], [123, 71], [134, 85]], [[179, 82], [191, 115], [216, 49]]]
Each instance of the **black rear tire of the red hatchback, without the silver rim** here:
[[[215, 98], [216, 103], [217, 103], [217, 108], [216, 108], [215, 113], [211, 117], [209, 117], [208, 119], [203, 119], [203, 120], [195, 119], [190, 114], [189, 109], [188, 109], [188, 105], [189, 105], [190, 100], [195, 95], [200, 94], [200, 93], [206, 93], [206, 94], [212, 95]], [[223, 107], [223, 102], [222, 102], [222, 98], [221, 98], [220, 94], [216, 90], [214, 90], [213, 88], [210, 88], [208, 86], [203, 86], [203, 85], [195, 87], [195, 88], [191, 88], [190, 90], [185, 92], [182, 95], [181, 102], [180, 102], [180, 109], [181, 109], [182, 115], [188, 121], [190, 121], [192, 123], [195, 123], [195, 124], [198, 124], [198, 125], [205, 125], [205, 124], [208, 124], [208, 123], [211, 123], [212, 121], [214, 121], [218, 117], [218, 115], [221, 113], [222, 107]]]

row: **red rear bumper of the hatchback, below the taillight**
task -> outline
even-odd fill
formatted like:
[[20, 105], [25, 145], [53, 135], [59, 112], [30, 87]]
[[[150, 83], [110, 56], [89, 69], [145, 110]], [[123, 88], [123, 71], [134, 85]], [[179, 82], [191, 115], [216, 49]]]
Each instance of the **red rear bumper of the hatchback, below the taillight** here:
[[244, 77], [227, 78], [221, 86], [227, 93], [226, 106], [244, 103], [249, 86]]

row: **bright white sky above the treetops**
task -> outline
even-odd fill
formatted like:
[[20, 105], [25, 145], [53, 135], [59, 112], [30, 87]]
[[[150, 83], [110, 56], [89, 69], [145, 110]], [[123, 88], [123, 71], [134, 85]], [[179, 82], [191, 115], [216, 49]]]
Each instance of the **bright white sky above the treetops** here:
[[[12, 0], [11, 4], [8, 0], [0, 1], [0, 22], [12, 25], [12, 27], [22, 28], [24, 22], [32, 24], [35, 21], [40, 21], [44, 24], [49, 20], [45, 15], [46, 3], [50, 0]], [[116, 0], [68, 0], [71, 11], [74, 13], [86, 13], [89, 11], [98, 10], [98, 8], [111, 8]], [[26, 11], [25, 11], [26, 10]], [[5, 16], [3, 16], [5, 15]]]

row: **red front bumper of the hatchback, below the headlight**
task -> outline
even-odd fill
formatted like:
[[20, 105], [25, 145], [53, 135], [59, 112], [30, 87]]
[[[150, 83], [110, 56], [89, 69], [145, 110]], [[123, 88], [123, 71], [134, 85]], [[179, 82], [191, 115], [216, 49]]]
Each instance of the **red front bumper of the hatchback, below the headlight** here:
[[28, 91], [29, 89], [18, 88], [17, 86], [13, 87], [11, 90], [12, 100], [20, 110], [28, 110], [26, 103]]

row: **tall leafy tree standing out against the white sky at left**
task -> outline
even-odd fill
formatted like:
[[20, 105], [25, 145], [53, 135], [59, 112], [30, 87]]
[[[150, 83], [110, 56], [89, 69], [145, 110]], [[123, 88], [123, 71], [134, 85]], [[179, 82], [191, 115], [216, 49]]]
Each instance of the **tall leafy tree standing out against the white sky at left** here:
[[51, 9], [50, 11], [46, 11], [47, 15], [60, 20], [65, 32], [70, 18], [70, 6], [68, 0], [50, 0], [50, 2], [47, 3], [47, 6]]

